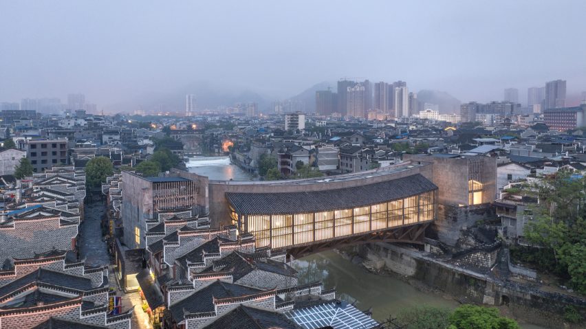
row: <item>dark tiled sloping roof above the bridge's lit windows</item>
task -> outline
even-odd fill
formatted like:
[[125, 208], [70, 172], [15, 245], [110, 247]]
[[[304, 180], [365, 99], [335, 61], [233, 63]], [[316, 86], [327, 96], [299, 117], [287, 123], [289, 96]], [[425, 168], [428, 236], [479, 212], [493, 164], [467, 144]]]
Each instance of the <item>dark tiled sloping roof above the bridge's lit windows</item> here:
[[239, 214], [293, 214], [361, 207], [433, 190], [437, 190], [434, 183], [422, 174], [414, 174], [352, 188], [286, 193], [228, 192], [226, 198]]

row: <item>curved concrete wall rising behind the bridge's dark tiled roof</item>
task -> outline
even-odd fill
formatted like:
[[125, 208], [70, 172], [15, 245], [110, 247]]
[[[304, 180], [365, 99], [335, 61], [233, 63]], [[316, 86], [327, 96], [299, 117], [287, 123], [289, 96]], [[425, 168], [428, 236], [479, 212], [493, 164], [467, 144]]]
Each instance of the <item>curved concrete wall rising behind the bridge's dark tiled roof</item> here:
[[[323, 191], [336, 190], [339, 188], [353, 188], [372, 183], [380, 183], [392, 179], [411, 176], [413, 174], [422, 174], [427, 179], [433, 181], [433, 167], [429, 163], [421, 163], [420, 165], [408, 168], [411, 163], [404, 162], [396, 166], [384, 168], [402, 168], [404, 170], [393, 172], [389, 174], [373, 176], [362, 179], [351, 179], [345, 181], [331, 181], [329, 183], [287, 183], [283, 181], [277, 182], [253, 182], [240, 183], [231, 181], [210, 181], [208, 185], [209, 195], [209, 210], [211, 227], [219, 227], [219, 225], [231, 225], [230, 207], [226, 199], [227, 192], [238, 193], [285, 193], [285, 192], [309, 192], [309, 191]], [[380, 169], [381, 170], [381, 169]], [[360, 177], [366, 177], [365, 172], [360, 173]], [[332, 177], [336, 179], [336, 177]], [[308, 179], [307, 181], [316, 181], [316, 179]], [[466, 194], [466, 197], [467, 194]]]

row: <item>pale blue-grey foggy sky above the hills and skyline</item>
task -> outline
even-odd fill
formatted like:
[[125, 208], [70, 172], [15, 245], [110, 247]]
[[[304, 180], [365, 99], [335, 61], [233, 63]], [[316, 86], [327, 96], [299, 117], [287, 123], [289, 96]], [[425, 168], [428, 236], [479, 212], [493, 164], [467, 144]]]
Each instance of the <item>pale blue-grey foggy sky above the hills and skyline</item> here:
[[[459, 100], [586, 90], [586, 1], [0, 0], [0, 101], [107, 106], [196, 81], [287, 98], [342, 77]], [[197, 93], [197, 91], [193, 91]]]

